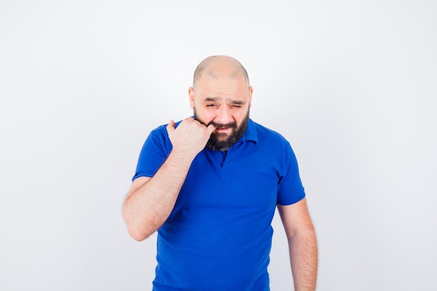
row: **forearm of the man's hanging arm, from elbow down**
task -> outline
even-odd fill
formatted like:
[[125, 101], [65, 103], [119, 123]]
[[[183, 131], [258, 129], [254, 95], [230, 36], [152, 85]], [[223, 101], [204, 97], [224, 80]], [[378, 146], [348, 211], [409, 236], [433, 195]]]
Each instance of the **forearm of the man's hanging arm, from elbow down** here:
[[308, 230], [290, 238], [289, 246], [295, 291], [316, 290], [318, 248], [312, 225]]

